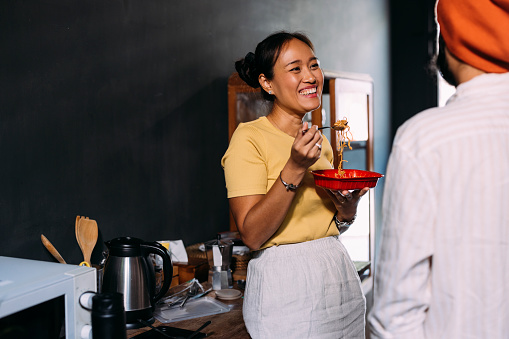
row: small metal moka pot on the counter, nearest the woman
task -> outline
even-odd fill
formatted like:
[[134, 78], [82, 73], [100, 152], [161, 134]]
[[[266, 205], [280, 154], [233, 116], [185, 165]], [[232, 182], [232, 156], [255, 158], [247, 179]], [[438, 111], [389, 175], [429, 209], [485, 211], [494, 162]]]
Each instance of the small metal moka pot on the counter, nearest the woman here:
[[213, 290], [221, 290], [233, 287], [232, 259], [233, 241], [221, 240], [218, 234], [217, 240], [205, 242], [205, 250], [209, 261], [209, 283]]

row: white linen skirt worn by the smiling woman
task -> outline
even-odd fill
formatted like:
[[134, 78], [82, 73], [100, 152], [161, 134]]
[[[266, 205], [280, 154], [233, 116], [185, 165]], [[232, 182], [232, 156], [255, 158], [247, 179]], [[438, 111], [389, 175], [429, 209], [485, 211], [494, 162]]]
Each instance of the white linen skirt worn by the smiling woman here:
[[338, 237], [255, 252], [243, 316], [254, 339], [365, 338], [366, 299]]

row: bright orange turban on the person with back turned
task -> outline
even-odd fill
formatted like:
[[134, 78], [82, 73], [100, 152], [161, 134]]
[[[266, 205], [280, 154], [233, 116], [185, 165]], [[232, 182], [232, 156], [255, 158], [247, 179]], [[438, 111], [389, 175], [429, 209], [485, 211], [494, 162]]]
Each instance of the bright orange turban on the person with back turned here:
[[436, 14], [455, 57], [487, 73], [509, 71], [509, 0], [439, 0]]

